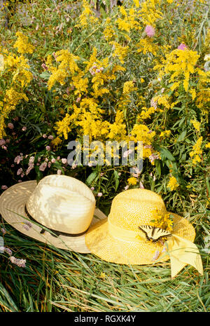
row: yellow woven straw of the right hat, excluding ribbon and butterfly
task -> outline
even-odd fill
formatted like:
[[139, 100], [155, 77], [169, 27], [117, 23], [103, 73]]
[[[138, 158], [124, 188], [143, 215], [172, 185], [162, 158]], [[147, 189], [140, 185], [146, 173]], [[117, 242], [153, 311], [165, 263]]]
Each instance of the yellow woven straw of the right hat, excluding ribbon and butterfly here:
[[[165, 203], [162, 198], [146, 189], [130, 189], [119, 193], [111, 205], [109, 222], [122, 229], [122, 234], [127, 231], [135, 231], [141, 234], [137, 240], [125, 240], [120, 238], [120, 232], [113, 236], [109, 231], [108, 219], [104, 219], [94, 224], [86, 234], [85, 241], [90, 251], [106, 262], [116, 264], [154, 264], [164, 262], [169, 259], [165, 252], [165, 245], [160, 242], [152, 243], [142, 238], [139, 231], [140, 225], [152, 225], [154, 210], [167, 213]], [[176, 234], [190, 241], [195, 239], [195, 229], [179, 215], [171, 213], [174, 217], [174, 227], [172, 234]], [[158, 259], [157, 259], [158, 251]]]

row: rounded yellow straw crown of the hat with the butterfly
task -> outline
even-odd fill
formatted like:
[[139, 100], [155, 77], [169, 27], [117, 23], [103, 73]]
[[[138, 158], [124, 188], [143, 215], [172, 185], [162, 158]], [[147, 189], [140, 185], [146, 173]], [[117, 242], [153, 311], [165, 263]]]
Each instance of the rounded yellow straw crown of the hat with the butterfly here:
[[130, 189], [119, 193], [112, 202], [109, 219], [122, 229], [137, 231], [140, 225], [153, 225], [155, 215], [165, 215], [162, 198], [151, 190]]

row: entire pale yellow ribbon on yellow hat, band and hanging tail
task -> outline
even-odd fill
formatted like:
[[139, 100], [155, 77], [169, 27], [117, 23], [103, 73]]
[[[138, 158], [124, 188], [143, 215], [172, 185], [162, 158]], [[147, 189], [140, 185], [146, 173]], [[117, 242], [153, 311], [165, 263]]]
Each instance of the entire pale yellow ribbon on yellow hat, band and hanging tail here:
[[[118, 240], [132, 241], [136, 242], [137, 245], [139, 241], [145, 241], [146, 238], [139, 231], [132, 231], [123, 229], [116, 224], [111, 223], [111, 219], [108, 218], [109, 223], [109, 234]], [[182, 238], [181, 236], [176, 236], [172, 234], [170, 238], [166, 241], [167, 244], [167, 254], [169, 254], [171, 261], [171, 276], [172, 278], [176, 276], [187, 264], [192, 265], [203, 275], [202, 259], [200, 257], [200, 252], [195, 245], [190, 240]]]

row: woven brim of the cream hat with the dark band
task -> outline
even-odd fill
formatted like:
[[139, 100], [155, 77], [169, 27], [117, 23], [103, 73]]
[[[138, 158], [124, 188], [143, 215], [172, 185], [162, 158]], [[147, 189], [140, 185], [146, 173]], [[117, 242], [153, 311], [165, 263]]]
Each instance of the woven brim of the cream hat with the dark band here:
[[[6, 189], [6, 191], [1, 194], [0, 213], [3, 219], [21, 233], [41, 241], [42, 243], [54, 245], [55, 247], [65, 250], [90, 253], [90, 250], [85, 245], [85, 234], [73, 237], [62, 235], [55, 237], [48, 231], [41, 233], [43, 228], [27, 217], [25, 213], [25, 204], [36, 188], [36, 185], [36, 180], [21, 182], [20, 184], [10, 186], [10, 188]], [[90, 226], [93, 226], [95, 223], [99, 222], [100, 219], [104, 218], [106, 218], [106, 215], [98, 208], [95, 208], [94, 217]], [[27, 224], [25, 224], [27, 221], [31, 223], [30, 228], [27, 228]]]

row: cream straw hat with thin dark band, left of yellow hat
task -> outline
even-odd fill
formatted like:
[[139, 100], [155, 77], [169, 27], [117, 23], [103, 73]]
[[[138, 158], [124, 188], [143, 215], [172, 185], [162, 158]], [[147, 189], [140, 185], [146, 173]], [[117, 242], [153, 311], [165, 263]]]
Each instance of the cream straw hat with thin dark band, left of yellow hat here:
[[0, 196], [3, 219], [25, 235], [66, 250], [88, 253], [85, 232], [106, 217], [78, 179], [48, 175], [10, 186]]

